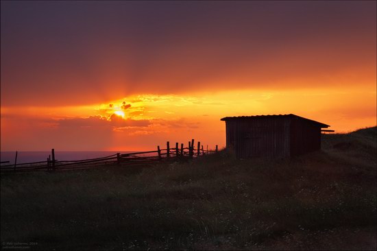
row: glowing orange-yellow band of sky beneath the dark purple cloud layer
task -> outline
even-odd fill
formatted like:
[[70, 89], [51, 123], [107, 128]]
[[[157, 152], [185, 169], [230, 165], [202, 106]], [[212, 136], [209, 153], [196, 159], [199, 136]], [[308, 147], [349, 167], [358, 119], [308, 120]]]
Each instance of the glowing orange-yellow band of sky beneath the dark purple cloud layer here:
[[186, 144], [193, 138], [209, 148], [222, 147], [221, 117], [292, 112], [347, 132], [375, 125], [375, 102], [374, 91], [355, 88], [134, 95], [88, 106], [19, 106], [1, 110], [1, 144], [9, 150], [126, 151], [150, 150], [166, 141]]

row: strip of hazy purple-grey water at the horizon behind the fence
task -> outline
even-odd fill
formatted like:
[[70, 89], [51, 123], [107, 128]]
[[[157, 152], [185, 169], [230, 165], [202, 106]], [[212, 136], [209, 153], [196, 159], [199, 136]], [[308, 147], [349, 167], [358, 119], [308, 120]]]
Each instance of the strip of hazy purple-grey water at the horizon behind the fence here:
[[[125, 154], [127, 152], [121, 152]], [[17, 163], [30, 163], [37, 161], [45, 161], [51, 155], [51, 152], [19, 152], [17, 154]], [[106, 157], [117, 152], [55, 152], [56, 160], [83, 160], [86, 158]], [[16, 152], [0, 152], [1, 161], [10, 161], [14, 164]], [[6, 164], [8, 165], [8, 164]]]

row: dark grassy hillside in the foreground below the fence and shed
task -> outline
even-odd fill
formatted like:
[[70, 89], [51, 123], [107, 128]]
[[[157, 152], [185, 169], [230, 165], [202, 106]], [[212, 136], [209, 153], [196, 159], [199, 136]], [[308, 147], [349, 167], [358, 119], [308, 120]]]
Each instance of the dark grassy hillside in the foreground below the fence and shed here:
[[376, 250], [376, 128], [321, 152], [1, 176], [2, 249]]

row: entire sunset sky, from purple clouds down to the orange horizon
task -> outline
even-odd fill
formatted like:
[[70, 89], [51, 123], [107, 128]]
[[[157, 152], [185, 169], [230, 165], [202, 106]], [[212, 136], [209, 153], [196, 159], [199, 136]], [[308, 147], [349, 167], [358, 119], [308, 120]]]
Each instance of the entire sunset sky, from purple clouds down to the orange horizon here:
[[376, 125], [376, 1], [1, 1], [1, 151], [225, 145], [227, 116]]

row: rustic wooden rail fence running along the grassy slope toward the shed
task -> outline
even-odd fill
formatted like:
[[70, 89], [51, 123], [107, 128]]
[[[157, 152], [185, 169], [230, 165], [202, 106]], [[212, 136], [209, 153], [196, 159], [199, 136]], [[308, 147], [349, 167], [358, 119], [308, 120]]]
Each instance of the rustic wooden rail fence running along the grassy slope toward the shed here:
[[[197, 142], [197, 147], [194, 147], [194, 139], [189, 142], [189, 147], [184, 147], [184, 144], [175, 143], [175, 147], [170, 147], [167, 141], [166, 149], [160, 149], [157, 146], [155, 151], [147, 152], [132, 152], [127, 154], [112, 154], [101, 158], [90, 158], [85, 160], [57, 160], [55, 150], [51, 150], [51, 154], [46, 160], [33, 163], [17, 163], [17, 154], [14, 159], [14, 164], [8, 164], [10, 161], [2, 161], [0, 163], [1, 173], [5, 172], [21, 172], [21, 171], [57, 171], [68, 169], [88, 169], [94, 167], [104, 167], [107, 165], [147, 165], [156, 163], [158, 161], [177, 160], [185, 158], [199, 157], [206, 154], [211, 154], [218, 151], [216, 145], [215, 150], [204, 149], [204, 146]], [[7, 165], [3, 165], [7, 164]]]

